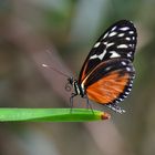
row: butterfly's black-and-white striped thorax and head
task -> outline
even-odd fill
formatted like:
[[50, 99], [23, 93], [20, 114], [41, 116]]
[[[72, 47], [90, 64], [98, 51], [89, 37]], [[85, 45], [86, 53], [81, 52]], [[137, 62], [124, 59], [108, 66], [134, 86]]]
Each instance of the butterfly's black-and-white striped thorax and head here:
[[81, 86], [81, 84], [78, 82], [78, 80], [73, 78], [68, 79], [69, 84], [73, 86], [74, 94], [81, 95], [82, 97], [85, 95], [85, 90]]

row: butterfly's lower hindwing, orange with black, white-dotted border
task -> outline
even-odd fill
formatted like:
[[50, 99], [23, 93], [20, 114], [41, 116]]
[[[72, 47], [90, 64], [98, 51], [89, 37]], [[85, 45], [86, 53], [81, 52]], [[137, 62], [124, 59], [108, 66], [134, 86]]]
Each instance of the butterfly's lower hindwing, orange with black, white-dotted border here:
[[127, 96], [134, 75], [135, 70], [130, 60], [114, 59], [97, 65], [82, 85], [92, 101], [114, 104]]

